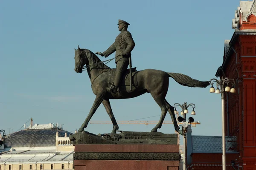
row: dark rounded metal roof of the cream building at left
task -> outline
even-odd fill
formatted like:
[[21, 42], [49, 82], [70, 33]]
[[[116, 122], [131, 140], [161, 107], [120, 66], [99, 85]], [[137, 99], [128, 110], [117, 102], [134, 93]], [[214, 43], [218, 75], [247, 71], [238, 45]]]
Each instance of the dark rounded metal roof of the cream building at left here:
[[[65, 131], [57, 128], [52, 129], [26, 129], [6, 137], [4, 147], [49, 147], [56, 145], [56, 132], [64, 137]], [[67, 136], [71, 133], [67, 132]]]

